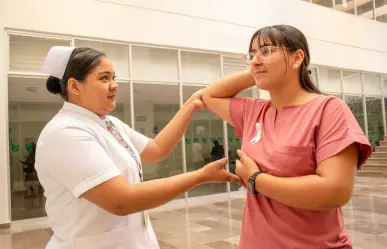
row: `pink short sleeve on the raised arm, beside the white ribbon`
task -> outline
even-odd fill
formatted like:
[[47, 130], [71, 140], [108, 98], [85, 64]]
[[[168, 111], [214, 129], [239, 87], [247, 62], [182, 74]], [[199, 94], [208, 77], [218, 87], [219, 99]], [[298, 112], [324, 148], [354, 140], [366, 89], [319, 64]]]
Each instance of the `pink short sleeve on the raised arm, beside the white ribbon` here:
[[243, 128], [249, 119], [255, 119], [266, 103], [265, 100], [234, 97], [230, 102], [230, 118], [235, 129], [235, 136], [242, 138]]

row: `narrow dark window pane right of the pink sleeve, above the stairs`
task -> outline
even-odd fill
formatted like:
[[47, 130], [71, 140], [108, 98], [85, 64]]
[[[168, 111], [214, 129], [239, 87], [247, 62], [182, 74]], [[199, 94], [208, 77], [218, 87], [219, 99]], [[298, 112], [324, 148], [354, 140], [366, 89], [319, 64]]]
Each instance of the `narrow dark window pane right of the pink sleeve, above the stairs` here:
[[373, 146], [379, 146], [383, 141], [383, 112], [381, 97], [366, 97], [368, 139]]

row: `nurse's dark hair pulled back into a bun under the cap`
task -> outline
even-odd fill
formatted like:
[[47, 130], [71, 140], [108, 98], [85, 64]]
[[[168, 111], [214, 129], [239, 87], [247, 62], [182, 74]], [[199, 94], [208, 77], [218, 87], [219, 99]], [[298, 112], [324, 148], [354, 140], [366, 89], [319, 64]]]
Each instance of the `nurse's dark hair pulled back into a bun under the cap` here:
[[71, 53], [62, 79], [50, 76], [47, 79], [47, 90], [52, 94], [59, 94], [64, 100], [68, 100], [67, 82], [74, 78], [80, 82], [99, 65], [106, 55], [92, 48], [75, 48]]

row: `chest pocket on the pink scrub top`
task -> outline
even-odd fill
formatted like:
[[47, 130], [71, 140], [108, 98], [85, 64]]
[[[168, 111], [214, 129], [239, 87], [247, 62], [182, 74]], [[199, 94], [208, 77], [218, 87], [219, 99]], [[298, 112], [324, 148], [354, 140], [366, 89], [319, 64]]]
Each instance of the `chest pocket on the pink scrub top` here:
[[316, 160], [312, 146], [279, 146], [271, 157], [273, 174], [294, 177], [315, 174]]

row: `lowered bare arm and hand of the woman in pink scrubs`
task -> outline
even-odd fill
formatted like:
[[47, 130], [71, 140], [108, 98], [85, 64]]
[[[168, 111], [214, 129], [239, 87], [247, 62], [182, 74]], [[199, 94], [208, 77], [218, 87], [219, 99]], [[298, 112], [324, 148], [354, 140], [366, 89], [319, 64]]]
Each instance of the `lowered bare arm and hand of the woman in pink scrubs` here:
[[[247, 156], [243, 153], [242, 157]], [[238, 163], [237, 171], [238, 175], [243, 175], [242, 180], [247, 181], [259, 169], [257, 166], [254, 169], [252, 159], [242, 157], [244, 163]], [[358, 148], [351, 145], [322, 161], [315, 175], [286, 178], [260, 174], [255, 179], [255, 186], [259, 194], [291, 207], [317, 211], [334, 209], [350, 200], [357, 164]]]

